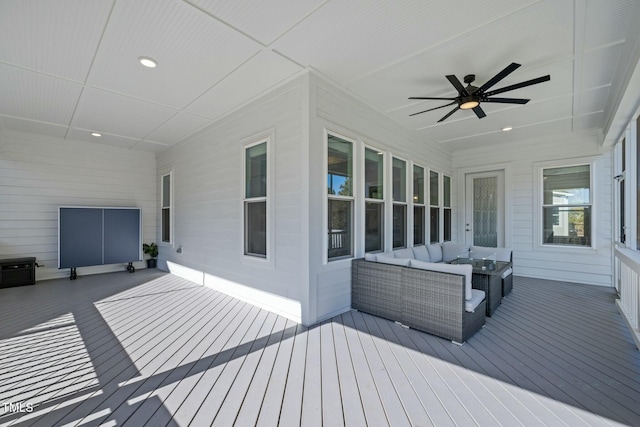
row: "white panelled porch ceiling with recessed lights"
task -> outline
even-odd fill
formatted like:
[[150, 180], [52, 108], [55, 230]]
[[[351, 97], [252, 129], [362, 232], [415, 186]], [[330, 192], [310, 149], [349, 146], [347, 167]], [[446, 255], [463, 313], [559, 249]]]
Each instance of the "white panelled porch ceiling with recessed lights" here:
[[[637, 0], [2, 0], [0, 127], [160, 151], [313, 69], [452, 151], [605, 133], [637, 22]], [[528, 104], [409, 116], [446, 103], [410, 96], [456, 95], [445, 75], [511, 62], [494, 89], [551, 75], [501, 95]]]

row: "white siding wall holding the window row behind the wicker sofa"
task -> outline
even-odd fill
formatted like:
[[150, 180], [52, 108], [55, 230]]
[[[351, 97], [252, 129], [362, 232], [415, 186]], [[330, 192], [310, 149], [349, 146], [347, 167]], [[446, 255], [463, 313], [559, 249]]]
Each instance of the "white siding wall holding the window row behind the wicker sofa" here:
[[[310, 76], [310, 134], [309, 134], [309, 286], [310, 315], [313, 322], [346, 311], [351, 306], [351, 259], [325, 261], [326, 239], [326, 158], [325, 129], [357, 140], [356, 151], [368, 144], [384, 150], [388, 155], [416, 162], [425, 168], [433, 168], [452, 178], [452, 203], [456, 200], [456, 181], [452, 174], [451, 156], [437, 144], [429, 144], [382, 113], [347, 95], [325, 80]], [[388, 156], [387, 156], [388, 157]], [[361, 168], [356, 157], [356, 174]], [[361, 161], [360, 161], [361, 163]], [[409, 168], [410, 165], [408, 164]], [[388, 171], [387, 171], [388, 172]], [[412, 176], [412, 175], [411, 175]], [[356, 185], [360, 183], [356, 179]], [[408, 181], [411, 188], [412, 179]], [[359, 188], [354, 189], [357, 192]], [[410, 198], [409, 198], [410, 199]], [[357, 197], [355, 207], [356, 257], [364, 256], [362, 242], [358, 241], [358, 227], [362, 227], [362, 197]], [[456, 207], [452, 206], [455, 230]], [[389, 210], [387, 210], [387, 213]], [[412, 216], [411, 205], [407, 214]], [[427, 208], [427, 227], [428, 213]], [[387, 214], [385, 214], [387, 215]], [[411, 224], [412, 222], [410, 222]], [[455, 231], [454, 231], [455, 232]], [[412, 231], [411, 231], [412, 233]], [[385, 230], [385, 240], [390, 241], [391, 229]], [[361, 234], [360, 234], [361, 235]], [[454, 234], [453, 239], [456, 236]]]

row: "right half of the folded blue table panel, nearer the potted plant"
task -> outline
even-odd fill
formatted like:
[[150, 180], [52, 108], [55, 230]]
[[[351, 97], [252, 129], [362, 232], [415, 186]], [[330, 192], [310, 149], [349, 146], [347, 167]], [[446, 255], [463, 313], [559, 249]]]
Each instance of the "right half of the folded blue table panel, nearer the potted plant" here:
[[104, 263], [140, 261], [140, 209], [104, 210]]

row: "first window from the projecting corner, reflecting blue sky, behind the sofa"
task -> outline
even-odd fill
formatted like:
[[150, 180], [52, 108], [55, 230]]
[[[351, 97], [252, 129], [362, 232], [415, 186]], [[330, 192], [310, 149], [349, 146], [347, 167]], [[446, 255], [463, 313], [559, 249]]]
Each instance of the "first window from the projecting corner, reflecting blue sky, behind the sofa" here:
[[327, 136], [327, 258], [353, 256], [353, 143]]

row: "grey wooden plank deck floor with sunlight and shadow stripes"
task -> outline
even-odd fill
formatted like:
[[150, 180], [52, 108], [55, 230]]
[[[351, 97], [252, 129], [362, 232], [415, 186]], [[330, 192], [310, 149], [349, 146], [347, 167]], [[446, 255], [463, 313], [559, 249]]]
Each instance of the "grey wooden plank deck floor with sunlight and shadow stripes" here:
[[640, 425], [611, 289], [516, 277], [464, 346], [155, 270], [0, 290], [0, 425]]

